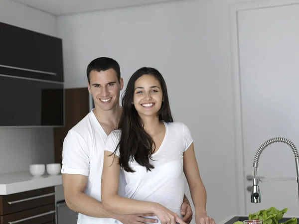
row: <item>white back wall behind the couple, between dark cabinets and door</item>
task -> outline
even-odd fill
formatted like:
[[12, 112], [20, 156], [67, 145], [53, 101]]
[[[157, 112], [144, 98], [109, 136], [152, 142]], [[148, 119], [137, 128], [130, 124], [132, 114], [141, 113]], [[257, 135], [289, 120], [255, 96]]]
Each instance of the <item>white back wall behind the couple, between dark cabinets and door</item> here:
[[216, 222], [240, 212], [229, 3], [184, 0], [58, 17], [66, 88], [85, 87], [86, 67], [100, 56], [120, 63], [125, 82], [142, 66], [163, 74], [175, 120], [192, 131], [207, 212]]

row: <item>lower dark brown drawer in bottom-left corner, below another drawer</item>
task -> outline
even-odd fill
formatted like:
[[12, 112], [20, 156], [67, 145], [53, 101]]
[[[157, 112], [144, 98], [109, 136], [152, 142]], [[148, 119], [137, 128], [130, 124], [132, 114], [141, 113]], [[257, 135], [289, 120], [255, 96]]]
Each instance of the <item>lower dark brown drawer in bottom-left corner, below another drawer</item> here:
[[1, 224], [51, 224], [55, 223], [55, 204], [0, 216]]

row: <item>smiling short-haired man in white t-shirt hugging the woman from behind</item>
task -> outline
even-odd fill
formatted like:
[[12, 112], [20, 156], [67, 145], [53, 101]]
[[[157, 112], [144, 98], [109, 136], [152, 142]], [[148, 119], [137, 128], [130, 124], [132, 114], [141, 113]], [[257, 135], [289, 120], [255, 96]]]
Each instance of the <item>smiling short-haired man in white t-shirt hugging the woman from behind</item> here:
[[[106, 57], [93, 60], [87, 67], [88, 91], [95, 108], [69, 130], [63, 142], [62, 183], [67, 206], [79, 213], [77, 224], [156, 223], [143, 216], [120, 215], [106, 211], [101, 203], [101, 177], [106, 138], [117, 128], [121, 114], [120, 91], [124, 87], [119, 64]], [[119, 194], [124, 195], [126, 181], [121, 171]], [[192, 220], [186, 197], [182, 204], [184, 221]]]

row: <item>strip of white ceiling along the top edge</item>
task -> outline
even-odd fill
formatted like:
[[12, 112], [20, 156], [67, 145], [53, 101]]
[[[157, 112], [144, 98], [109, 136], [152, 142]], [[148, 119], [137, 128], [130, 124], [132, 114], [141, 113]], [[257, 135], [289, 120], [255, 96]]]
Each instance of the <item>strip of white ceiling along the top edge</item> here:
[[54, 15], [105, 10], [171, 0], [14, 0]]

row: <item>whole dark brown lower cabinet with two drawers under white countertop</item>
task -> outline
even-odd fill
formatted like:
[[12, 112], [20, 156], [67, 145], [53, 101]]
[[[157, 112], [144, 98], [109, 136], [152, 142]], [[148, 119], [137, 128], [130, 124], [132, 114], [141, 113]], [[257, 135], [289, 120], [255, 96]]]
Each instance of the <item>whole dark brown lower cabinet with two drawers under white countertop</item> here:
[[54, 187], [0, 196], [0, 224], [55, 224]]

